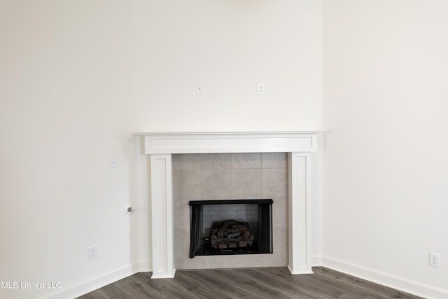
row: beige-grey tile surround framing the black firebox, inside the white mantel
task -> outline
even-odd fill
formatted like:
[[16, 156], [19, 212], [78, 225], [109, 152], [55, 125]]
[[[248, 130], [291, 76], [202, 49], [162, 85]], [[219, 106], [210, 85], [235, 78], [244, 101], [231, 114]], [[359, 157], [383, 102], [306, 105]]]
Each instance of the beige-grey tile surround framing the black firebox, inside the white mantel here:
[[[174, 155], [173, 169], [176, 269], [287, 265], [288, 170], [285, 153]], [[188, 201], [230, 198], [272, 198], [274, 200], [274, 253], [188, 258], [190, 251]]]

